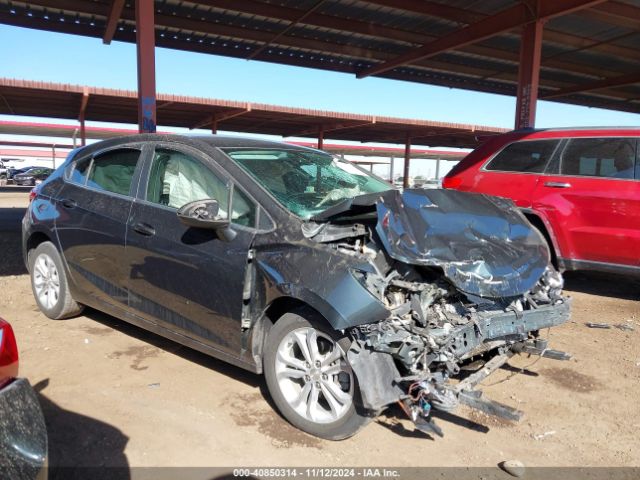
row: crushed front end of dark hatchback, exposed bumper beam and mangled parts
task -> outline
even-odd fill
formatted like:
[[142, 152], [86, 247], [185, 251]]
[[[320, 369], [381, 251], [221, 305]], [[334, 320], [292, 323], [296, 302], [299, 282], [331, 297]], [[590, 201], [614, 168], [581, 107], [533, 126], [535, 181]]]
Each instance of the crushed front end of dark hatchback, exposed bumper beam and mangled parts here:
[[[560, 275], [548, 269], [527, 295], [470, 300], [446, 282], [391, 279], [384, 300], [393, 314], [383, 322], [350, 330], [348, 352], [365, 408], [379, 411], [400, 402], [416, 426], [441, 434], [432, 408], [450, 412], [464, 403], [510, 420], [520, 412], [485, 400], [474, 389], [515, 353], [564, 360], [549, 350], [540, 331], [569, 318]], [[461, 368], [477, 368], [464, 380]], [[373, 385], [375, 385], [373, 387]]]

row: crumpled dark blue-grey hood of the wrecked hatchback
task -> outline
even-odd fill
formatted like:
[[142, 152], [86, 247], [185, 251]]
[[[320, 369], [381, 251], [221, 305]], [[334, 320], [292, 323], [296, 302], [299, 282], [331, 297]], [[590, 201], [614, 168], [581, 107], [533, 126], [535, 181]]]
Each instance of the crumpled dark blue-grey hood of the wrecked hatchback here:
[[469, 294], [522, 295], [549, 264], [544, 237], [510, 200], [456, 190], [391, 190], [376, 208], [376, 231], [389, 256], [440, 267]]

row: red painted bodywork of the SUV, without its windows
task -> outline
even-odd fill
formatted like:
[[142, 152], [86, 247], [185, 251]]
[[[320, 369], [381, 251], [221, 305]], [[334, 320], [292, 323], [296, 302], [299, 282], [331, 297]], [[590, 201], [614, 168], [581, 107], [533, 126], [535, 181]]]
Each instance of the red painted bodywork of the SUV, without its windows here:
[[[577, 138], [635, 140], [635, 179], [563, 175], [550, 172], [549, 164], [543, 173], [484, 168], [514, 142]], [[562, 150], [566, 144], [559, 145]], [[639, 146], [640, 129], [633, 128], [514, 131], [471, 152], [447, 174], [443, 186], [510, 198], [536, 215], [563, 268], [640, 271]]]

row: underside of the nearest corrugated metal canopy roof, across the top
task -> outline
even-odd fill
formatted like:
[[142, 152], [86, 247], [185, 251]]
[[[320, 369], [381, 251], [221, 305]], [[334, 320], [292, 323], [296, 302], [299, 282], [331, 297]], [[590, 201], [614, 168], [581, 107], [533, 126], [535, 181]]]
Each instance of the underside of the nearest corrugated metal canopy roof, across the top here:
[[[580, 4], [555, 1], [559, 2]], [[355, 74], [521, 4], [517, 0], [162, 0], [155, 2], [157, 44]], [[102, 37], [110, 5], [109, 0], [0, 0], [0, 22]], [[127, 1], [116, 40], [135, 40], [133, 9], [134, 2]], [[519, 29], [501, 32], [379, 76], [513, 95]], [[639, 61], [640, 0], [590, 2], [588, 8], [547, 21], [541, 96], [638, 72]], [[555, 100], [640, 112], [637, 98], [637, 88], [624, 86]]]

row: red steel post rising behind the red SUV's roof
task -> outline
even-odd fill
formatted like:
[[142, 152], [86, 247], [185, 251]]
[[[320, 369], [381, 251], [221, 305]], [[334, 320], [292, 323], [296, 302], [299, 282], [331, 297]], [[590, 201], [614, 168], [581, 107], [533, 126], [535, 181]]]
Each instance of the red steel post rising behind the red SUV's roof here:
[[516, 129], [533, 127], [536, 123], [543, 30], [544, 21], [542, 20], [528, 23], [522, 29], [516, 98]]

